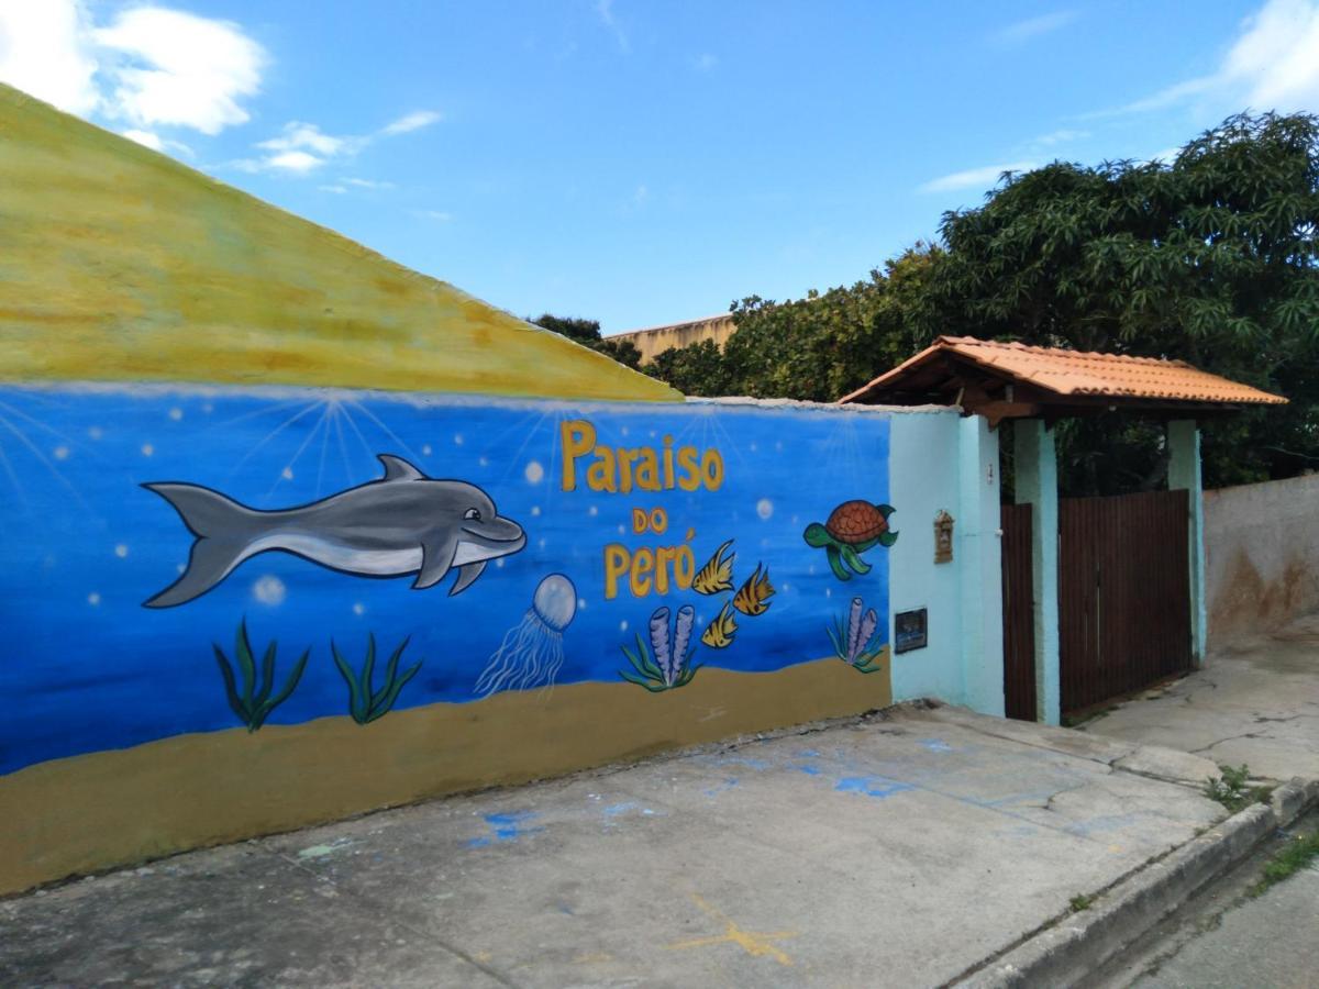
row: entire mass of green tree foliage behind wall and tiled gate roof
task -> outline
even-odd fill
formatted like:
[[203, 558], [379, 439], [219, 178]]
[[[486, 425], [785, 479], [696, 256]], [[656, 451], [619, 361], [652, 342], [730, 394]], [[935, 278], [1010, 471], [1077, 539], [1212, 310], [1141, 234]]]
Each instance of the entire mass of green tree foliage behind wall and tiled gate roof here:
[[[648, 368], [691, 394], [831, 401], [938, 334], [1187, 360], [1291, 398], [1207, 423], [1210, 487], [1319, 465], [1319, 119], [1240, 115], [1171, 162], [1054, 162], [1005, 175], [865, 281], [748, 297], [723, 353]], [[1162, 427], [1059, 427], [1067, 493], [1155, 487]]]

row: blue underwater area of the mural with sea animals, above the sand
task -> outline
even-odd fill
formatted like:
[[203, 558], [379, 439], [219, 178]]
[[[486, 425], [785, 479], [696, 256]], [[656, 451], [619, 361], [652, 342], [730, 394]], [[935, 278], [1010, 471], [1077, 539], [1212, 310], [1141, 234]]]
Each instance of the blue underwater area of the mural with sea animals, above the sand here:
[[886, 663], [882, 413], [0, 388], [0, 773], [189, 732]]

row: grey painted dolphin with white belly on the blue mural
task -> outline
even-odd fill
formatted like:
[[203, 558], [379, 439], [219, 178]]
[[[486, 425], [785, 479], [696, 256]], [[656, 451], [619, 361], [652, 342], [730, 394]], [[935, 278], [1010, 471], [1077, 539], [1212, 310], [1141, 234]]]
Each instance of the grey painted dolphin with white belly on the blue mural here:
[[415, 574], [433, 587], [458, 567], [462, 593], [488, 560], [526, 545], [522, 526], [495, 510], [475, 484], [433, 480], [406, 460], [379, 454], [385, 476], [298, 508], [262, 512], [197, 484], [144, 484], [165, 498], [197, 542], [187, 570], [146, 601], [171, 608], [199, 597], [245, 559], [281, 550], [343, 574]]

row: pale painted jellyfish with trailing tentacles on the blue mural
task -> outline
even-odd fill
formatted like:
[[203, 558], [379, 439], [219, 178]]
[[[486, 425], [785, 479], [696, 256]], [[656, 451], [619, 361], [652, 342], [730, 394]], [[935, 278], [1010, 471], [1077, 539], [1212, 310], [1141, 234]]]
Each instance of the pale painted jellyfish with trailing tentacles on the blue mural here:
[[562, 574], [550, 574], [537, 587], [532, 607], [510, 628], [476, 680], [476, 692], [526, 690], [553, 684], [563, 666], [563, 630], [576, 614], [576, 588]]

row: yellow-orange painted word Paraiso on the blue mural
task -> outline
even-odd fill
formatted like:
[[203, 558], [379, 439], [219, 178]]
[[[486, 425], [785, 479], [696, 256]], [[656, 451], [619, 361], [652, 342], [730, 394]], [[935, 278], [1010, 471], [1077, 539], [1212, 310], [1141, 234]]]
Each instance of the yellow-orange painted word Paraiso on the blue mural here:
[[632, 491], [719, 491], [724, 483], [724, 458], [710, 447], [674, 447], [665, 436], [658, 450], [612, 447], [596, 443], [596, 431], [587, 419], [565, 419], [559, 423], [563, 447], [563, 491], [576, 491], [578, 475], [584, 469], [586, 487], [591, 491], [627, 494]]

